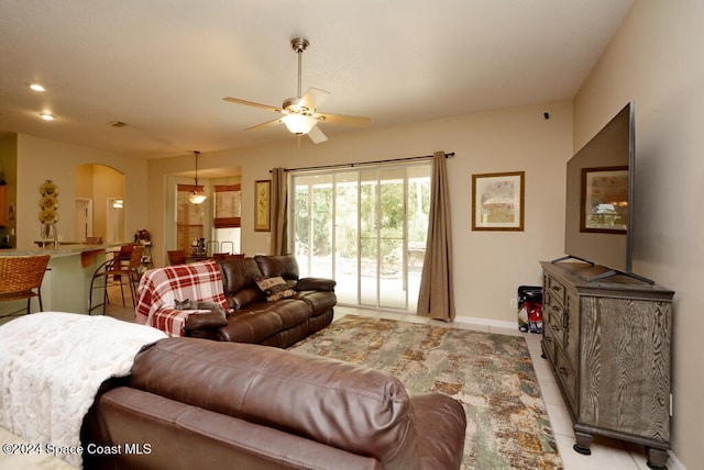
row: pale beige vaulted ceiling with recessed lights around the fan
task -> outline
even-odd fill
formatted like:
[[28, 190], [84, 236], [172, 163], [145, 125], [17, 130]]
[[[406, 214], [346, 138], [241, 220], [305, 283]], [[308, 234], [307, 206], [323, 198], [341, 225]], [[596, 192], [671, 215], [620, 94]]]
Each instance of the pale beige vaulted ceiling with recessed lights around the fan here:
[[144, 158], [294, 139], [222, 98], [295, 97], [295, 36], [319, 111], [372, 127], [570, 100], [631, 2], [0, 0], [0, 132]]

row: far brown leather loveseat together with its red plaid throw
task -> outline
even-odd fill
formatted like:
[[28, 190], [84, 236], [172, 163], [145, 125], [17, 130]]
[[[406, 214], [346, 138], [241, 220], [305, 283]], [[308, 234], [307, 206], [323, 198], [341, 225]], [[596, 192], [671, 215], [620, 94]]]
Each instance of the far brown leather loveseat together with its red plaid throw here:
[[[261, 287], [273, 279], [284, 284]], [[334, 286], [331, 279], [299, 278], [293, 255], [169, 266], [142, 278], [135, 321], [170, 336], [285, 348], [332, 322]], [[175, 299], [217, 303], [229, 314], [176, 311]]]

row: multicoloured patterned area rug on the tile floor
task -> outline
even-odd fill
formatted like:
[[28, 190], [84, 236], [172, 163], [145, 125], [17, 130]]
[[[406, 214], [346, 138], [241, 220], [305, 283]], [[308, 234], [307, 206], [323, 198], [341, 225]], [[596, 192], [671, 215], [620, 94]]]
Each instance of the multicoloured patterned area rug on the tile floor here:
[[396, 376], [410, 394], [459, 400], [468, 428], [462, 469], [561, 469], [526, 340], [345, 315], [290, 349]]

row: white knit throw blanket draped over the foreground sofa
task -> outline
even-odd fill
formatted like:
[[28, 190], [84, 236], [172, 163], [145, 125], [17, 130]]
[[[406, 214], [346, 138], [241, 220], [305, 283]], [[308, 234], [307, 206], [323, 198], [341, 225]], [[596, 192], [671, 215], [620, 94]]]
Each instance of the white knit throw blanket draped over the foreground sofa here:
[[[128, 376], [140, 349], [166, 334], [107, 316], [33, 313], [0, 326], [0, 426], [32, 444], [80, 446], [100, 384]], [[59, 454], [80, 467], [80, 454]]]

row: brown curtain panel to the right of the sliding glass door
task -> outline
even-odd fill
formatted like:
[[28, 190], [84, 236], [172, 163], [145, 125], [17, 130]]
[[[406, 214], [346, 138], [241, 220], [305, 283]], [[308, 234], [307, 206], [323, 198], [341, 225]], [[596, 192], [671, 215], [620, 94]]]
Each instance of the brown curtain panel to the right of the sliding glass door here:
[[430, 220], [417, 313], [448, 322], [454, 320], [454, 292], [450, 191], [444, 152], [436, 152], [432, 156], [430, 194]]

